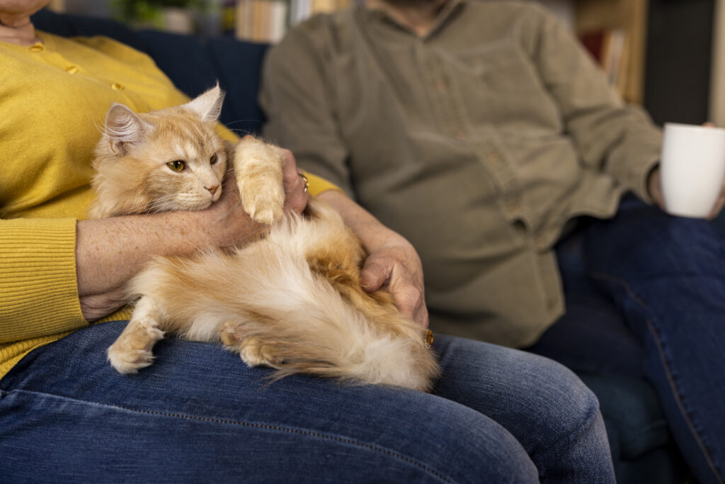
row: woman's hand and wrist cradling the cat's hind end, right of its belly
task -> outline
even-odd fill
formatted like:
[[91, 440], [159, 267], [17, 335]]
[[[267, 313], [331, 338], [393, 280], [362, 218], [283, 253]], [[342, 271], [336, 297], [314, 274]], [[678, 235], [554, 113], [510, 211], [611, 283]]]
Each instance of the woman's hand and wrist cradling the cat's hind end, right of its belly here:
[[400, 312], [427, 328], [423, 265], [413, 245], [340, 192], [330, 190], [318, 198], [340, 213], [368, 251], [361, 274], [364, 289], [373, 292], [387, 286]]

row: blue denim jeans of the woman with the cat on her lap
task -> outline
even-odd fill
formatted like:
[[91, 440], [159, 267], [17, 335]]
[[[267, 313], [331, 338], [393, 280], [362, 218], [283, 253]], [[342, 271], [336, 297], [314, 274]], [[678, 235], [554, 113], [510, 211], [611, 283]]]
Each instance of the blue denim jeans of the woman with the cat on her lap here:
[[562, 365], [436, 337], [432, 394], [270, 382], [209, 343], [123, 376], [125, 322], [33, 350], [0, 380], [4, 482], [612, 483], [597, 399]]

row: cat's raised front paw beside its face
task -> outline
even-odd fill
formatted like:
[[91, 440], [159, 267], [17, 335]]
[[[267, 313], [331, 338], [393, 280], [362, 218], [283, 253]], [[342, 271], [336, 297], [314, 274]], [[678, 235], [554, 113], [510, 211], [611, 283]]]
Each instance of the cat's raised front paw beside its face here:
[[260, 139], [248, 137], [234, 148], [233, 167], [244, 211], [255, 221], [273, 223], [282, 216], [282, 152]]

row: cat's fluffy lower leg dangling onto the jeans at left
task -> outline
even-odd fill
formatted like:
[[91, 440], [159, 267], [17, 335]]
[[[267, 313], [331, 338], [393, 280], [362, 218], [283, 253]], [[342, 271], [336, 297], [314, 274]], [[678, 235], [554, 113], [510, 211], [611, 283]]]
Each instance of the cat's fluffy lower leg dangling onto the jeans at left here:
[[154, 344], [164, 337], [160, 324], [162, 312], [152, 298], [139, 299], [128, 325], [108, 348], [111, 365], [120, 373], [136, 373], [152, 364]]

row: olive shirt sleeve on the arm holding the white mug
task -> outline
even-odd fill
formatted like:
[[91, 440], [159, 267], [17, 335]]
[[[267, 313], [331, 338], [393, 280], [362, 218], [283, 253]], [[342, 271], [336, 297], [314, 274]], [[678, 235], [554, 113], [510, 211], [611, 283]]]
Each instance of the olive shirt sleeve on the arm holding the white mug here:
[[660, 129], [644, 110], [624, 103], [569, 30], [542, 8], [534, 11], [539, 36], [529, 49], [581, 163], [609, 173], [651, 202], [647, 176], [659, 162]]

